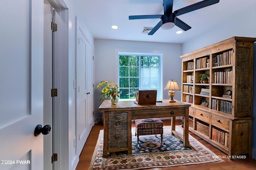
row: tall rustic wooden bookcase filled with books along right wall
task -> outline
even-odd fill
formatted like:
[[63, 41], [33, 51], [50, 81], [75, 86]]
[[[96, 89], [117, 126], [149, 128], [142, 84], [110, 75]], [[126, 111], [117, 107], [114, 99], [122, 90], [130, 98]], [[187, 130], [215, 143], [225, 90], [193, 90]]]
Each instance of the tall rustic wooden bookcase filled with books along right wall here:
[[[252, 157], [255, 41], [256, 38], [232, 37], [181, 56], [182, 102], [191, 104], [193, 121], [189, 130], [229, 156]], [[200, 74], [208, 74], [209, 83], [200, 83]], [[214, 135], [219, 136], [214, 139]]]

